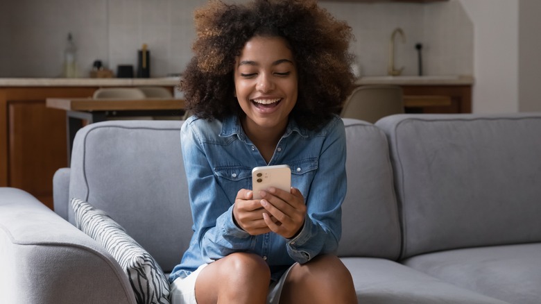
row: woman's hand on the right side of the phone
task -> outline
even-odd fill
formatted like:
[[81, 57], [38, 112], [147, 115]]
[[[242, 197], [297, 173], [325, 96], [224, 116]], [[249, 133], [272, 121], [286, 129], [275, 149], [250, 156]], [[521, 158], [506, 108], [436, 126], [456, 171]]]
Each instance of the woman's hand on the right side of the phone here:
[[266, 226], [286, 239], [291, 239], [304, 226], [306, 205], [299, 189], [291, 188], [291, 193], [271, 187], [261, 191], [261, 212]]

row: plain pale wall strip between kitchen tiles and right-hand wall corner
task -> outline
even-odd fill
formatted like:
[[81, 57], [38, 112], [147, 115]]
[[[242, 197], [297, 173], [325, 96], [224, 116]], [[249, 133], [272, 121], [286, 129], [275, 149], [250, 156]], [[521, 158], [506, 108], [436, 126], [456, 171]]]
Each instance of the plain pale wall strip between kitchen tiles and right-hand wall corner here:
[[460, 1], [474, 24], [473, 112], [517, 112], [519, 0]]

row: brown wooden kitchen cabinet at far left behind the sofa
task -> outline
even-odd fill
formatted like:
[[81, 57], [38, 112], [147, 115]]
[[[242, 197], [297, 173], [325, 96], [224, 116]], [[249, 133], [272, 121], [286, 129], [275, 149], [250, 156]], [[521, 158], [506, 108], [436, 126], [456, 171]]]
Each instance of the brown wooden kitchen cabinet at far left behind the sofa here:
[[[22, 81], [0, 78], [0, 187], [23, 189], [51, 209], [53, 175], [68, 167], [67, 128], [66, 111], [47, 108], [46, 99], [89, 97], [107, 82], [78, 80], [83, 85], [74, 85], [74, 80], [65, 81], [68, 85], [60, 80], [60, 85], [50, 85], [42, 79], [29, 81], [35, 86], [10, 85]], [[166, 81], [164, 86], [172, 90], [175, 83]], [[124, 83], [110, 81], [111, 85]]]

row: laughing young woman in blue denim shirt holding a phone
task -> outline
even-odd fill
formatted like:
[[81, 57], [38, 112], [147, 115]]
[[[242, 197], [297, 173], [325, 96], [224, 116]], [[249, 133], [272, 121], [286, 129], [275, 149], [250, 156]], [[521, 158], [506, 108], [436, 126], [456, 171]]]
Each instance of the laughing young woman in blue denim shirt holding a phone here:
[[[196, 11], [181, 89], [194, 237], [173, 303], [357, 303], [341, 237], [350, 27], [316, 1], [213, 1]], [[291, 167], [253, 199], [251, 170]]]

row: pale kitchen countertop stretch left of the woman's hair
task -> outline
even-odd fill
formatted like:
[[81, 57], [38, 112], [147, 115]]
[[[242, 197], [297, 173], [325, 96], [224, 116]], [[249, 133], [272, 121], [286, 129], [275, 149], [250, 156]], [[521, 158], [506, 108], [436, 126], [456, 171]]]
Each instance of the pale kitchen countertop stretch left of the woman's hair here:
[[123, 87], [178, 85], [178, 77], [164, 78], [0, 78], [0, 87]]

